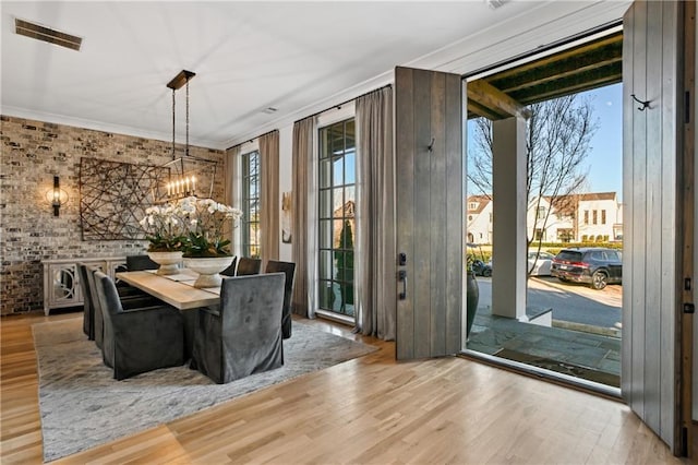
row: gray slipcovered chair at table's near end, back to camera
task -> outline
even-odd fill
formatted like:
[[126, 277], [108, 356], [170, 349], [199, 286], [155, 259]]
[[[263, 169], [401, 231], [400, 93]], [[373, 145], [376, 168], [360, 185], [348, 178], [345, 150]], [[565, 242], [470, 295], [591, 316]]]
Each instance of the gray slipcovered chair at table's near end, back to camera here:
[[284, 365], [284, 273], [224, 277], [220, 305], [197, 310], [191, 368], [218, 384]]

